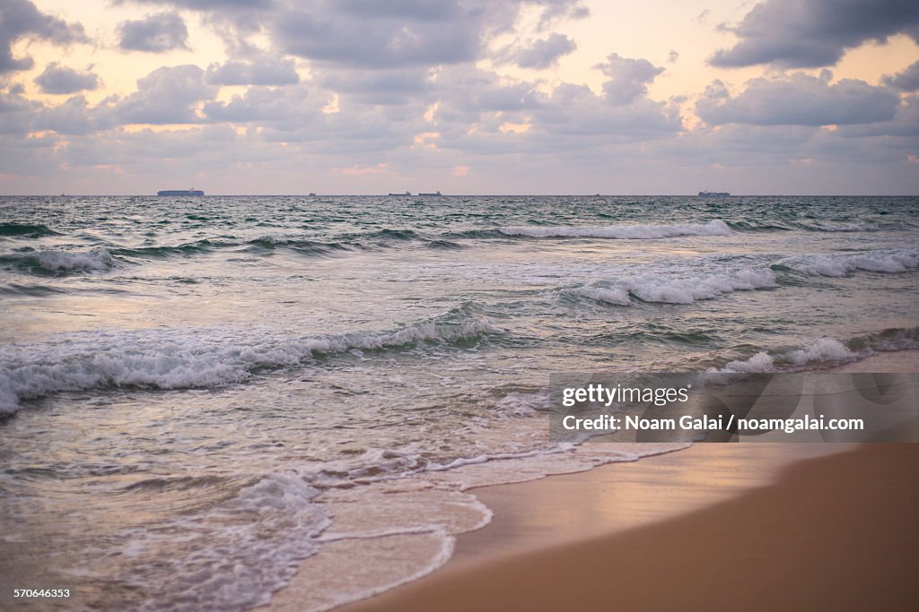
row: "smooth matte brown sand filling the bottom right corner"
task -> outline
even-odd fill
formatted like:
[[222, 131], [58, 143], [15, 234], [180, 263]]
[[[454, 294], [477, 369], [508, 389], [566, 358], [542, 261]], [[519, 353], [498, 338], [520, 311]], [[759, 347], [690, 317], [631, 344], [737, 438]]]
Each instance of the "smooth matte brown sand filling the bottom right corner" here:
[[[917, 466], [919, 444], [866, 444], [661, 523], [480, 562], [458, 555], [425, 579], [340, 609], [917, 609]], [[602, 482], [617, 467], [588, 475]]]

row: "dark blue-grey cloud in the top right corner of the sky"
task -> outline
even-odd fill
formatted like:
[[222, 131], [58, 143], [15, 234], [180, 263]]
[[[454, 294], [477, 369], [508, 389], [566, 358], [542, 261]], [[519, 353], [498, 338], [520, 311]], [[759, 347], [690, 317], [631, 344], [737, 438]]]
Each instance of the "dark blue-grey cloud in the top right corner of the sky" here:
[[720, 67], [775, 63], [790, 68], [831, 66], [866, 40], [906, 33], [919, 41], [915, 0], [766, 0], [735, 27], [740, 40], [712, 56]]

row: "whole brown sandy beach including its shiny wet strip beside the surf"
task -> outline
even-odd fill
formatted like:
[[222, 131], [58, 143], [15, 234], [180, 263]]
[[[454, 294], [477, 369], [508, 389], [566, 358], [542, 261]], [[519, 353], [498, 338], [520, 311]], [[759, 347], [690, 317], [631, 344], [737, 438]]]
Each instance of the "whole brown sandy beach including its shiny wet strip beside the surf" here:
[[[915, 372], [919, 351], [834, 372]], [[909, 609], [919, 446], [702, 444], [482, 487], [494, 510], [431, 575], [338, 608]], [[272, 609], [297, 609], [294, 578]]]

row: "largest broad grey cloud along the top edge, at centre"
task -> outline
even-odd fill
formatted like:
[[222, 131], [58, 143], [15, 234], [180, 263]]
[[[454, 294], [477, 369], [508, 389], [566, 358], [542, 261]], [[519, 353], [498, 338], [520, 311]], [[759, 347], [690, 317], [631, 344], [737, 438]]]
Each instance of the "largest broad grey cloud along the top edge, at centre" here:
[[[129, 1], [199, 10], [234, 59], [264, 53], [252, 38], [262, 33], [273, 52], [338, 69], [475, 61], [496, 34], [513, 31], [525, 7], [538, 12], [539, 28], [589, 14], [582, 0], [122, 0]], [[552, 35], [521, 51], [522, 61], [542, 65], [570, 48], [562, 35]]]

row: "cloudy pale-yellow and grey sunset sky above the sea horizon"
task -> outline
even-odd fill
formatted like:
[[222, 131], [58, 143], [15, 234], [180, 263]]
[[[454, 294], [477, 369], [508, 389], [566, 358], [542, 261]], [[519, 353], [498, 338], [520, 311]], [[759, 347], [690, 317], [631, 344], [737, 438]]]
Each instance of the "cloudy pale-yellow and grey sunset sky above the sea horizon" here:
[[0, 0], [0, 194], [919, 194], [915, 0]]

